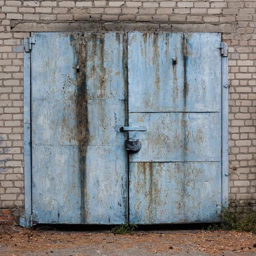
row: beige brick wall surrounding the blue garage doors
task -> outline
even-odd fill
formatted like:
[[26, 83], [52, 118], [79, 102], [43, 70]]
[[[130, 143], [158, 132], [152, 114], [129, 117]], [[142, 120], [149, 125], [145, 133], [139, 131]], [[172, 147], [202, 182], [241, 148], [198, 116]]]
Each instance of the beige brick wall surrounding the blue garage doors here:
[[0, 208], [24, 206], [23, 37], [44, 27], [39, 23], [47, 31], [57, 23], [61, 31], [67, 23], [234, 24], [236, 31], [223, 33], [230, 52], [230, 201], [255, 204], [255, 9], [253, 0], [0, 0]]

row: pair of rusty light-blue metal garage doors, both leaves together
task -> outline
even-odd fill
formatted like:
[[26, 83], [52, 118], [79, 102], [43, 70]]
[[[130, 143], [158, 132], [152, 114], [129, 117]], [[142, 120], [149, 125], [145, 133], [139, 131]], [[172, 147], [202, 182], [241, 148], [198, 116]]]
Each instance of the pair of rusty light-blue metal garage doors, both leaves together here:
[[32, 37], [35, 222], [220, 220], [220, 33]]

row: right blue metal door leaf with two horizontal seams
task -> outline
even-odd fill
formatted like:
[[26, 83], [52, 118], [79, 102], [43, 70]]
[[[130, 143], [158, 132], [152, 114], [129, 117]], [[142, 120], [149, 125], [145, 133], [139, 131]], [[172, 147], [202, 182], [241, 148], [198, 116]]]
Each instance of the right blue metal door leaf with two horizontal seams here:
[[221, 35], [128, 34], [129, 214], [137, 224], [219, 221]]

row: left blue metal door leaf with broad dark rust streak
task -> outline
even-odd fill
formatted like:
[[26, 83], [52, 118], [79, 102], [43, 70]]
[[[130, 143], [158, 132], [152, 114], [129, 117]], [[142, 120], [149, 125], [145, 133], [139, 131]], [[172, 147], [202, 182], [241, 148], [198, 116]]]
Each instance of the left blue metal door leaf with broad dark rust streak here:
[[38, 223], [127, 220], [127, 34], [35, 33], [32, 213]]

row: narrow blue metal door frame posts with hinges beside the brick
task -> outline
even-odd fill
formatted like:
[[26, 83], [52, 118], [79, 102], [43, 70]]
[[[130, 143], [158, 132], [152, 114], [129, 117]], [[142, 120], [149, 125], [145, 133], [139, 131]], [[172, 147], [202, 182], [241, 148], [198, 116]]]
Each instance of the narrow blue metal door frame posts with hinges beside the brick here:
[[[78, 32], [78, 31], [77, 31]], [[107, 32], [107, 31], [101, 31]], [[109, 31], [110, 32], [110, 31]], [[113, 32], [113, 31], [112, 31]], [[148, 31], [149, 32], [149, 31]], [[58, 33], [58, 32], [56, 32]], [[172, 33], [169, 31], [158, 33]], [[33, 33], [31, 33], [31, 36]], [[31, 37], [24, 37], [24, 78], [23, 78], [23, 106], [24, 106], [24, 194], [25, 214], [20, 218], [20, 225], [32, 227], [35, 216], [32, 215], [32, 113], [31, 113]], [[29, 49], [30, 48], [30, 49]], [[222, 187], [221, 198], [222, 208], [228, 207], [228, 46], [221, 43], [221, 169]], [[129, 200], [129, 199], [128, 199]], [[129, 211], [129, 209], [128, 209]]]

